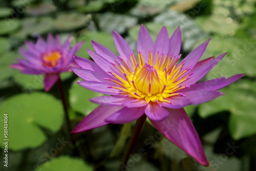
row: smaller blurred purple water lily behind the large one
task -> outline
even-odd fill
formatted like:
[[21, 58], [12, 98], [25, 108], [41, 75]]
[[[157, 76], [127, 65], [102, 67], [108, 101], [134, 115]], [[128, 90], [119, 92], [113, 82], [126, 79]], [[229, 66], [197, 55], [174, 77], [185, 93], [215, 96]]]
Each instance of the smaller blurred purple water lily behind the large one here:
[[82, 44], [81, 41], [70, 50], [70, 37], [61, 45], [58, 35], [54, 38], [48, 34], [47, 41], [39, 37], [36, 44], [25, 42], [27, 49], [20, 48], [20, 54], [26, 59], [17, 59], [19, 63], [11, 67], [24, 74], [44, 74], [45, 90], [49, 91], [61, 72], [71, 71], [70, 66], [78, 67], [72, 56]]

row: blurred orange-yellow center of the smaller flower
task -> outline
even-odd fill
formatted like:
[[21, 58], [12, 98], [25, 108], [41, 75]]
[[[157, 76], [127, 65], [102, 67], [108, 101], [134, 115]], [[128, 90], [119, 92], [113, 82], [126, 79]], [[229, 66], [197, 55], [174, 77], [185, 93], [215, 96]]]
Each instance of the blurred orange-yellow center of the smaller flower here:
[[61, 54], [58, 51], [52, 51], [42, 55], [43, 64], [47, 67], [56, 67], [60, 60]]

